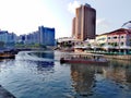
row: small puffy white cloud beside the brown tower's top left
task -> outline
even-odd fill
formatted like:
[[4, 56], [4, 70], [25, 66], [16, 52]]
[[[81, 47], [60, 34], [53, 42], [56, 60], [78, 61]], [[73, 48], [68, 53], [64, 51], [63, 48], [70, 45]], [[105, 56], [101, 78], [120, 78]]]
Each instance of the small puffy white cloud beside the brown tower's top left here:
[[68, 11], [69, 11], [70, 13], [75, 14], [75, 9], [79, 8], [79, 7], [80, 7], [80, 2], [79, 2], [79, 1], [70, 2], [70, 3], [68, 4]]

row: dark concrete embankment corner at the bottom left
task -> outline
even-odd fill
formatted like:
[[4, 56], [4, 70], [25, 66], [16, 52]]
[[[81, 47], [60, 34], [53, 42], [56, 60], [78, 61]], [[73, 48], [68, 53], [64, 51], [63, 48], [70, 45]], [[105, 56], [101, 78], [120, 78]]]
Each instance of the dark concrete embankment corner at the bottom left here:
[[0, 98], [16, 98], [0, 85]]

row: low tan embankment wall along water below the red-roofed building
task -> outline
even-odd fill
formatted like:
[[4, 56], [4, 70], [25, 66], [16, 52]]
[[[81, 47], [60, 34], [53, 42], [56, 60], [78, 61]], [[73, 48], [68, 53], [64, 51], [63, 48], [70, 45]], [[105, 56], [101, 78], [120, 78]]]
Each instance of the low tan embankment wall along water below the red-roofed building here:
[[107, 54], [105, 54], [104, 57], [108, 58], [108, 59], [131, 60], [131, 56], [129, 56], [129, 54], [124, 54], [124, 56], [117, 56], [117, 54], [107, 56]]

